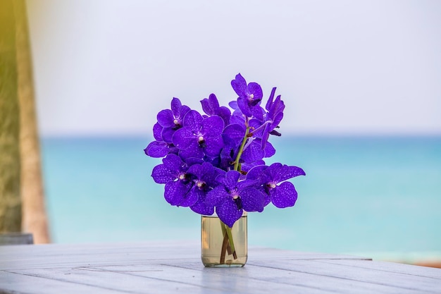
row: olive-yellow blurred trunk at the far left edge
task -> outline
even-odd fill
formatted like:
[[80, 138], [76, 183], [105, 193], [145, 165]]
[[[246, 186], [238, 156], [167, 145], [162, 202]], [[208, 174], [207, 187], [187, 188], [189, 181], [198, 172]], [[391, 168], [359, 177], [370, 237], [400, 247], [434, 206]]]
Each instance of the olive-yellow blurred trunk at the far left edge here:
[[21, 231], [19, 132], [13, 0], [1, 0], [0, 233]]

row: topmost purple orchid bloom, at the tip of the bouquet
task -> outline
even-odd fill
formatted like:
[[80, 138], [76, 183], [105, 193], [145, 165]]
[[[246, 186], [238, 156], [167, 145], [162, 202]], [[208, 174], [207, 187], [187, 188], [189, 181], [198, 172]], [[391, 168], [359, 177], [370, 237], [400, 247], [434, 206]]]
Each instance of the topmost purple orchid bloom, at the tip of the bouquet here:
[[235, 80], [231, 81], [231, 86], [239, 95], [237, 98], [237, 106], [245, 116], [255, 116], [260, 120], [263, 120], [263, 109], [260, 106], [263, 92], [261, 86], [256, 82], [247, 81], [242, 75], [237, 74]]

